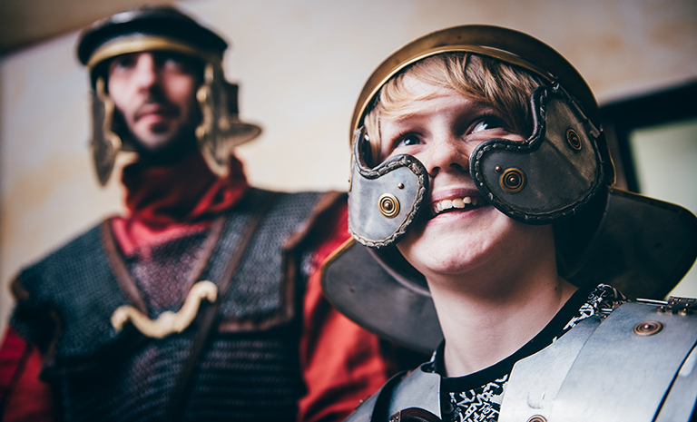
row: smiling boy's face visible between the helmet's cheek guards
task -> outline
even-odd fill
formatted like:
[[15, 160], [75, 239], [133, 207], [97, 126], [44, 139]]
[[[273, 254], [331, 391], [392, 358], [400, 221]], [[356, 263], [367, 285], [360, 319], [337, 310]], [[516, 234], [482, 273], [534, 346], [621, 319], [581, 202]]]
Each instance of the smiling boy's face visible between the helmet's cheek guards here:
[[[469, 156], [491, 138], [525, 141], [512, 132], [510, 119], [461, 93], [405, 78], [414, 93], [416, 113], [382, 118], [382, 158], [407, 153], [424, 164], [430, 176], [425, 210], [398, 249], [428, 280], [439, 274], [496, 268], [496, 260], [515, 259], [520, 248], [551, 235], [551, 227], [509, 219], [477, 191]], [[546, 233], [546, 234], [545, 234]]]

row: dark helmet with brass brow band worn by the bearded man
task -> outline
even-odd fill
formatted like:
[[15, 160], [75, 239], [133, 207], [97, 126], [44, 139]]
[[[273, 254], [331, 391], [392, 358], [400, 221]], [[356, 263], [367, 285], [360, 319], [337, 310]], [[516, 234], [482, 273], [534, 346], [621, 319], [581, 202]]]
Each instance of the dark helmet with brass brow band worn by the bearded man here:
[[222, 55], [228, 44], [220, 35], [169, 6], [144, 6], [95, 22], [80, 35], [77, 56], [87, 66], [92, 82], [93, 135], [90, 142], [94, 167], [104, 185], [119, 151], [133, 151], [127, 137], [114, 130], [114, 104], [106, 90], [110, 59], [120, 54], [171, 51], [195, 57], [204, 64], [196, 98], [201, 123], [198, 145], [212, 172], [228, 172], [234, 145], [257, 137], [261, 128], [238, 117], [238, 85], [228, 83]]

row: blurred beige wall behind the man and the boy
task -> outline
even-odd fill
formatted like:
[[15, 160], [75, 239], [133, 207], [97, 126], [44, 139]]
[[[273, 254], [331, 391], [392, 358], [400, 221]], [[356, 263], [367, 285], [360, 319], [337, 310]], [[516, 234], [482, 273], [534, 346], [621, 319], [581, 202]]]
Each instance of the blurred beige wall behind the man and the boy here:
[[[265, 132], [238, 154], [250, 181], [281, 190], [347, 188], [348, 119], [389, 53], [461, 24], [522, 30], [552, 44], [601, 102], [697, 76], [694, 0], [199, 0], [183, 9], [232, 43], [225, 68], [241, 112]], [[113, 212], [87, 157], [87, 79], [77, 34], [0, 61], [0, 320], [19, 266]], [[2, 323], [0, 323], [2, 324]]]

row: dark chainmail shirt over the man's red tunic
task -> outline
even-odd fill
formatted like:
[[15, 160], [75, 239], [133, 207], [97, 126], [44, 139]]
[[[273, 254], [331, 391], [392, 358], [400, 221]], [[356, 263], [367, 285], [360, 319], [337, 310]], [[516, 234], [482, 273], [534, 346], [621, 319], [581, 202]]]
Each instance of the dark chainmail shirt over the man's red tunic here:
[[[220, 284], [245, 228], [268, 196], [250, 188], [246, 201], [226, 216], [218, 237], [211, 236], [212, 229], [192, 229], [121, 254], [149, 318], [179, 310], [192, 281]], [[290, 256], [282, 248], [320, 196], [273, 196], [221, 297], [221, 325], [197, 359], [182, 420], [295, 420], [305, 390], [296, 307], [312, 253], [300, 248]], [[63, 420], [164, 421], [198, 327], [194, 321], [163, 339], [147, 339], [131, 324], [116, 332], [110, 317], [129, 300], [107, 243], [100, 226], [25, 269], [19, 280], [31, 294], [18, 302], [12, 323], [49, 353], [44, 377], [59, 393]], [[300, 272], [294, 277], [285, 273], [290, 259]], [[52, 311], [61, 326], [51, 324]]]

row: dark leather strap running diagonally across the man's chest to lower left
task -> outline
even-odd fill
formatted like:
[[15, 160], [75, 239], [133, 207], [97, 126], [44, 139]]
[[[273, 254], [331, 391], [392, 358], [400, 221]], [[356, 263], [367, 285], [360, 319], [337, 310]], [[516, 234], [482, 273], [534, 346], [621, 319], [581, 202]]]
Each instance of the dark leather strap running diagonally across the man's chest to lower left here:
[[189, 353], [189, 358], [186, 361], [186, 365], [184, 366], [182, 372], [180, 373], [179, 379], [177, 380], [165, 420], [177, 422], [182, 420], [182, 417], [184, 416], [184, 409], [188, 402], [186, 397], [188, 397], [191, 393], [191, 378], [193, 378], [196, 363], [199, 360], [199, 356], [201, 356], [201, 351], [208, 342], [207, 340], [211, 337], [211, 329], [215, 325], [214, 322], [216, 319], [218, 319], [218, 309], [221, 308], [222, 299], [225, 297], [225, 293], [230, 287], [232, 276], [240, 266], [242, 257], [247, 251], [250, 241], [254, 237], [254, 233], [259, 227], [262, 217], [264, 214], [266, 214], [266, 211], [269, 210], [274, 198], [277, 195], [278, 192], [269, 191], [266, 193], [266, 198], [262, 200], [262, 205], [260, 206], [259, 211], [254, 215], [252, 221], [250, 221], [249, 226], [247, 226], [247, 230], [244, 232], [240, 240], [240, 244], [232, 255], [231, 260], [228, 261], [228, 266], [225, 268], [225, 272], [223, 272], [221, 282], [218, 286], [218, 300], [216, 300], [215, 303], [213, 303], [202, 314], [199, 332], [196, 339], [194, 339], [193, 345], [191, 346], [191, 351]]

